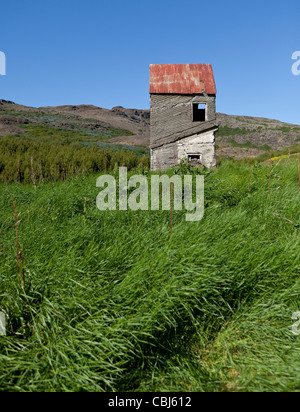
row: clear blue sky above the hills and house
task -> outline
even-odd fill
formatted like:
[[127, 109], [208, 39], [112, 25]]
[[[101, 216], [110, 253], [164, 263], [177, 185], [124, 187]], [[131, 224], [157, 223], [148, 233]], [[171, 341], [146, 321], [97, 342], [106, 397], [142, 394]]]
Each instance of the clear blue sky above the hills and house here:
[[217, 111], [300, 124], [299, 0], [2, 0], [0, 98], [149, 108], [149, 65], [211, 63]]

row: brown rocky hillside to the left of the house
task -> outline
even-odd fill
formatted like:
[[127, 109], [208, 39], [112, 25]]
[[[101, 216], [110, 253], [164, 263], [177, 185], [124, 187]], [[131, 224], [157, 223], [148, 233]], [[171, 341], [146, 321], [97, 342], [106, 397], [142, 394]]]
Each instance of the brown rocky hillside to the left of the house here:
[[108, 110], [90, 105], [33, 108], [0, 100], [0, 136], [25, 134], [24, 129], [31, 124], [85, 132], [91, 140], [149, 144], [147, 110], [121, 107]]

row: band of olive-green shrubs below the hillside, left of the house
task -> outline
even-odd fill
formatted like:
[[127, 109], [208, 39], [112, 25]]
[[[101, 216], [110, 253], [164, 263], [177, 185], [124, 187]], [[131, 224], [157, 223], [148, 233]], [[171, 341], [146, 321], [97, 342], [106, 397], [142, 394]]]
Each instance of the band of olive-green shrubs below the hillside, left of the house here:
[[31, 140], [24, 137], [0, 138], [0, 182], [30, 183], [33, 174], [40, 182], [56, 182], [70, 177], [111, 171], [126, 164], [128, 169], [138, 165], [148, 167], [147, 151], [122, 146], [98, 148], [80, 142]]

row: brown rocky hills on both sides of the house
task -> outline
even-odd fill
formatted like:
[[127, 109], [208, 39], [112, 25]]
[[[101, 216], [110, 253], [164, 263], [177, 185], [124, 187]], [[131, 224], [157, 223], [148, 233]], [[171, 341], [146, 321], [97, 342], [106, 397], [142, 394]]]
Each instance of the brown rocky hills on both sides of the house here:
[[[282, 150], [300, 142], [300, 126], [278, 120], [234, 116], [217, 113], [218, 153], [241, 159], [259, 156], [272, 150]], [[24, 134], [24, 125], [40, 124], [62, 129], [87, 132], [109, 132], [114, 128], [110, 142], [149, 146], [150, 111], [125, 109], [121, 106], [104, 109], [92, 105], [33, 108], [11, 101], [0, 100], [0, 136]], [[116, 132], [119, 130], [119, 133]]]

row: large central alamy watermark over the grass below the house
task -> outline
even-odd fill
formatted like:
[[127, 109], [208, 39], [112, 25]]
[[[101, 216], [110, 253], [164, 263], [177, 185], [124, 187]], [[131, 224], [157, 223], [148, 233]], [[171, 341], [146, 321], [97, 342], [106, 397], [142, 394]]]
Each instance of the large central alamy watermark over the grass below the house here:
[[134, 175], [128, 180], [127, 168], [120, 167], [118, 182], [114, 176], [102, 175], [97, 179], [96, 186], [102, 188], [96, 200], [99, 210], [117, 210], [117, 205], [119, 210], [149, 210], [149, 206], [150, 210], [159, 210], [160, 203], [162, 210], [171, 210], [172, 202], [172, 210], [189, 212], [186, 213], [188, 222], [198, 222], [204, 216], [204, 176], [201, 175], [151, 175], [150, 182], [146, 176]]

